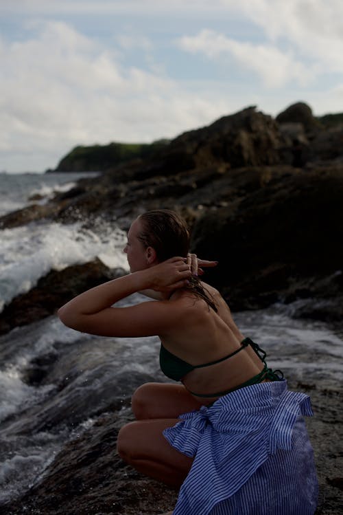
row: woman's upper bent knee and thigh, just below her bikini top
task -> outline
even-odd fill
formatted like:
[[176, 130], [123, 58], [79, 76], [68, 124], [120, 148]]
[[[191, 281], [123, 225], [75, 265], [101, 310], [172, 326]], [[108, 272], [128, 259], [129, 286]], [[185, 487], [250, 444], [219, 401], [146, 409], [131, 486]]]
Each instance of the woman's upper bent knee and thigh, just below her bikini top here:
[[201, 405], [182, 384], [146, 383], [132, 396], [132, 411], [137, 420], [177, 418], [181, 413], [200, 409]]

